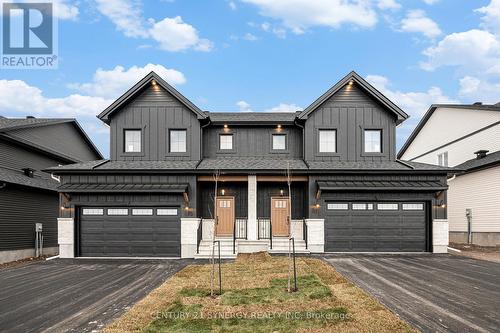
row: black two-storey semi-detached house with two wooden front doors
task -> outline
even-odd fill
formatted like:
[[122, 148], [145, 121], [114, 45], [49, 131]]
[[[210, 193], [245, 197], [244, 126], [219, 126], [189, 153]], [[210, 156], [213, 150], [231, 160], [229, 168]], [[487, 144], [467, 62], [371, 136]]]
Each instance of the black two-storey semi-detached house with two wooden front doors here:
[[446, 252], [450, 169], [396, 159], [407, 117], [354, 72], [295, 113], [204, 112], [150, 73], [99, 115], [110, 160], [50, 169], [61, 255], [206, 257], [214, 232], [226, 257], [288, 236], [301, 252]]

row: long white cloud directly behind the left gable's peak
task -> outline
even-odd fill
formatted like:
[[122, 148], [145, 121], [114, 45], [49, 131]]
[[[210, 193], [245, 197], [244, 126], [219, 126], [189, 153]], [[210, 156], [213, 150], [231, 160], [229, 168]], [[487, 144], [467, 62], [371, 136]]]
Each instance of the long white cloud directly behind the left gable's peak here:
[[123, 66], [116, 66], [111, 70], [99, 68], [94, 73], [92, 82], [73, 83], [70, 88], [94, 96], [117, 98], [151, 71], [156, 72], [172, 85], [186, 83], [184, 74], [175, 69], [169, 69], [162, 65], [147, 64], [144, 67], [132, 66], [128, 69]]

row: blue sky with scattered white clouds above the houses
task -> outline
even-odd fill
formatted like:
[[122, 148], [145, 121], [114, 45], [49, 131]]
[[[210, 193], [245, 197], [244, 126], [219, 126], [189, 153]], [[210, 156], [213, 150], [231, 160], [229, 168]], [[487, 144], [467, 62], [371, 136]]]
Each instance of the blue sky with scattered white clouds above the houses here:
[[[411, 115], [500, 102], [500, 0], [57, 0], [57, 70], [0, 71], [0, 114], [95, 115], [150, 70], [208, 111], [307, 107], [351, 70]], [[452, 124], [451, 124], [452, 125]]]

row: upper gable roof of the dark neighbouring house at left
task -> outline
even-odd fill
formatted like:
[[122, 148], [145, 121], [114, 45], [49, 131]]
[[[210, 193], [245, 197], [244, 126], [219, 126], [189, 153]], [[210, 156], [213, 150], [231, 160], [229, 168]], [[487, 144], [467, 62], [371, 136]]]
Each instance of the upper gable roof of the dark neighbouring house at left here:
[[31, 142], [28, 140], [24, 140], [20, 137], [14, 136], [14, 135], [9, 135], [9, 132], [11, 131], [16, 131], [19, 129], [27, 129], [27, 128], [36, 128], [36, 127], [42, 127], [42, 126], [53, 126], [53, 125], [59, 125], [59, 124], [64, 124], [64, 123], [70, 123], [72, 124], [75, 129], [80, 133], [80, 135], [84, 138], [85, 142], [87, 145], [90, 147], [90, 149], [96, 154], [97, 157], [103, 158], [101, 152], [97, 147], [94, 145], [92, 140], [89, 138], [87, 133], [83, 130], [83, 128], [80, 126], [78, 121], [74, 118], [34, 118], [34, 117], [27, 117], [27, 118], [6, 118], [6, 117], [0, 117], [0, 136], [3, 136], [4, 138], [12, 141], [16, 141], [17, 143], [30, 146], [31, 148], [41, 150], [43, 152], [46, 152], [48, 154], [63, 158], [65, 160], [68, 160], [70, 162], [80, 162], [79, 160], [67, 156], [65, 154], [62, 154], [59, 151], [53, 150], [50, 147], [45, 147], [40, 144], [37, 144], [35, 142]]

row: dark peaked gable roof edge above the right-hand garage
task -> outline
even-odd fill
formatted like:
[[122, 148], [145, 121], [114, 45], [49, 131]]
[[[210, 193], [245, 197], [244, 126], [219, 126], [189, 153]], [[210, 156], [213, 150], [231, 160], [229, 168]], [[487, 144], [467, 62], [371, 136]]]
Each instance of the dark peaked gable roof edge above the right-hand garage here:
[[374, 98], [377, 102], [382, 104], [387, 110], [394, 113], [397, 117], [397, 124], [402, 123], [409, 116], [403, 110], [401, 110], [396, 104], [391, 102], [387, 97], [385, 97], [380, 91], [375, 89], [371, 84], [369, 84], [365, 79], [363, 79], [358, 73], [352, 71], [339, 82], [337, 82], [333, 87], [328, 89], [323, 95], [321, 95], [317, 100], [315, 100], [311, 105], [309, 105], [304, 111], [299, 114], [300, 119], [306, 119], [309, 114], [321, 106], [326, 100], [335, 95], [340, 89], [349, 82], [354, 82], [358, 87], [360, 87], [365, 93]]

